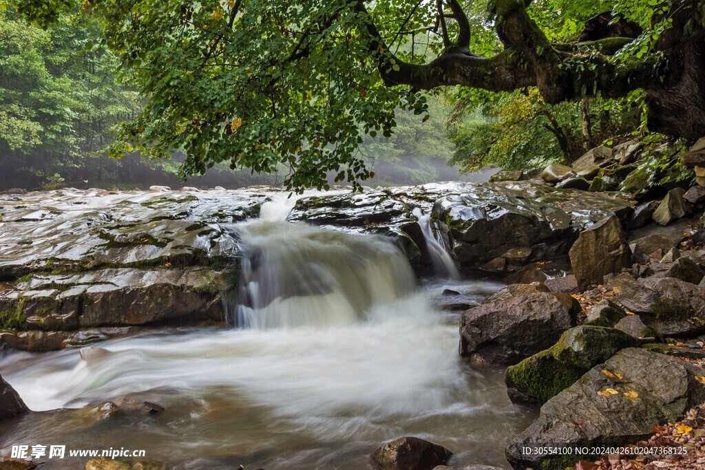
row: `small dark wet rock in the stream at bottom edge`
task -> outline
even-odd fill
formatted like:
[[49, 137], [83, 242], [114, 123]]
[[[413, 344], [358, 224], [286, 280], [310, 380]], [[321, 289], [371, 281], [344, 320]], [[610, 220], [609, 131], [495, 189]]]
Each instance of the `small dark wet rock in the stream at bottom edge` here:
[[399, 438], [379, 447], [372, 464], [379, 470], [432, 470], [446, 464], [453, 452], [419, 438]]

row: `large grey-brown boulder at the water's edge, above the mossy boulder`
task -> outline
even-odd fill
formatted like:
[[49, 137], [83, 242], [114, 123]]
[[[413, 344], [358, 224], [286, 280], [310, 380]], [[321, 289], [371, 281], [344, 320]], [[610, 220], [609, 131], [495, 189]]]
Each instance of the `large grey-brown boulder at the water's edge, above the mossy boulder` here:
[[542, 284], [508, 285], [460, 316], [460, 354], [486, 364], [517, 364], [551, 347], [575, 326], [580, 303]]

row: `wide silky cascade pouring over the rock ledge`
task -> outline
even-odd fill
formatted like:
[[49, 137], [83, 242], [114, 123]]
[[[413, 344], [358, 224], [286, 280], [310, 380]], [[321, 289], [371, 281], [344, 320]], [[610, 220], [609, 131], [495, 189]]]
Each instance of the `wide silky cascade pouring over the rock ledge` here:
[[243, 244], [238, 328], [326, 328], [360, 321], [375, 305], [415, 290], [405, 256], [383, 237], [305, 223], [235, 225]]

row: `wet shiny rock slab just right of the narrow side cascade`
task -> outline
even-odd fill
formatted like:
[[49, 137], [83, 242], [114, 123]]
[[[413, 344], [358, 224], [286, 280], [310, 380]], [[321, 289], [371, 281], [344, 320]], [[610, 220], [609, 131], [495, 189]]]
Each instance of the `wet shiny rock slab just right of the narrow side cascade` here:
[[560, 256], [583, 228], [613, 214], [626, 219], [632, 211], [623, 194], [556, 190], [529, 181], [464, 189], [440, 197], [433, 215], [448, 228], [453, 254], [466, 268], [517, 247], [532, 249], [527, 261]]

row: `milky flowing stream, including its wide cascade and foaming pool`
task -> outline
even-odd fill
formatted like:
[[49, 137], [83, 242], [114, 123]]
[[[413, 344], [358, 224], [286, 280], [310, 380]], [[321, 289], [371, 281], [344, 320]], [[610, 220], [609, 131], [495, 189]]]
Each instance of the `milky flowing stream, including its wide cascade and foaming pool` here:
[[[235, 328], [6, 352], [2, 376], [31, 409], [72, 410], [0, 421], [1, 452], [58, 443], [144, 449], [178, 469], [365, 469], [381, 443], [415, 435], [448, 447], [455, 463], [506, 466], [506, 443], [534, 416], [510, 404], [503, 371], [458, 357], [458, 316], [437, 306], [447, 287], [480, 302], [499, 286], [417, 288], [388, 240], [282, 214], [265, 204], [262, 220], [233, 227], [244, 247]], [[128, 411], [99, 419], [87, 408], [106, 400]], [[129, 411], [145, 400], [164, 412]]]

